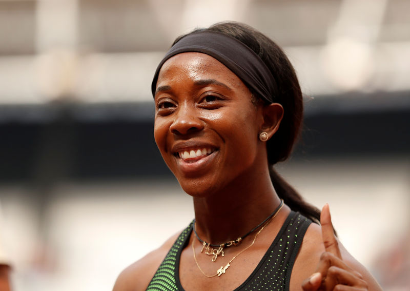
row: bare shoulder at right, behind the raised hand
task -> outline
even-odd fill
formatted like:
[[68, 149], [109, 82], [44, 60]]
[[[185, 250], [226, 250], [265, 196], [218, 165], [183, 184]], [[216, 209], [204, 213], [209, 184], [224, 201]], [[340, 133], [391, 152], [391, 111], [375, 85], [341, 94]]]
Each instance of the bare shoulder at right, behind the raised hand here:
[[[351, 267], [352, 269], [358, 271], [368, 283], [369, 289], [373, 289], [372, 286], [376, 288], [378, 283], [369, 273], [369, 271], [360, 264], [342, 245], [342, 243], [337, 239], [340, 252], [343, 261]], [[309, 228], [303, 238], [302, 245], [299, 249], [298, 256], [296, 258], [292, 276], [291, 276], [291, 286], [290, 290], [300, 289], [302, 282], [315, 273], [316, 267], [319, 263], [320, 257], [325, 252], [321, 227], [316, 223], [311, 223]]]

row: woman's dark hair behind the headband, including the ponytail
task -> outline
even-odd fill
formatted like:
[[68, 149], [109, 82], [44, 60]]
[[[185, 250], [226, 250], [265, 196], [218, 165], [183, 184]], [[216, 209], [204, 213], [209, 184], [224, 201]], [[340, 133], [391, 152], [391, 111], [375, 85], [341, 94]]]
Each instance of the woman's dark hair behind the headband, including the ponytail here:
[[[216, 31], [235, 37], [252, 49], [268, 66], [276, 80], [277, 96], [273, 100], [283, 106], [283, 118], [278, 131], [267, 142], [268, 162], [272, 184], [278, 196], [295, 211], [299, 211], [313, 221], [320, 220], [320, 211], [307, 203], [300, 194], [275, 171], [273, 165], [288, 159], [293, 145], [300, 135], [303, 120], [303, 101], [299, 81], [295, 70], [283, 50], [269, 37], [256, 29], [237, 22], [222, 22], [212, 25], [204, 31]], [[191, 33], [193, 33], [191, 32]], [[179, 36], [173, 45], [182, 37]]]

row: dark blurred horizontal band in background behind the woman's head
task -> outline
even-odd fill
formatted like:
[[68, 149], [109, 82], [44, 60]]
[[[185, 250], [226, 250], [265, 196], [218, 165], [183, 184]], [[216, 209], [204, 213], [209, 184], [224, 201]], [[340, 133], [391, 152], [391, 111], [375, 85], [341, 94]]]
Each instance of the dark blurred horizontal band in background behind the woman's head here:
[[[408, 156], [409, 95], [309, 101], [292, 161]], [[171, 177], [154, 142], [153, 111], [152, 103], [3, 106], [0, 182]]]

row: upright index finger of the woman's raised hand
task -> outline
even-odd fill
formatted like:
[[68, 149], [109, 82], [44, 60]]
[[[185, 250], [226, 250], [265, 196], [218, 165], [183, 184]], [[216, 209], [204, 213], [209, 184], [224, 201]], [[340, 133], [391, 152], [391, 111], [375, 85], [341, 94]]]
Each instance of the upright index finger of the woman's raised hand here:
[[339, 242], [336, 239], [330, 216], [329, 204], [325, 204], [320, 212], [320, 224], [322, 225], [322, 240], [326, 251], [342, 259], [340, 254]]

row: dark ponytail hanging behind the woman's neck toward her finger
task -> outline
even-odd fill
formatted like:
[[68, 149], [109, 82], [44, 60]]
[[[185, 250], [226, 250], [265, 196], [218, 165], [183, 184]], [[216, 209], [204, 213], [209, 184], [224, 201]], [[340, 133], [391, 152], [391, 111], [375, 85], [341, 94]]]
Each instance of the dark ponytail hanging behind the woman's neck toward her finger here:
[[319, 223], [320, 210], [318, 208], [306, 202], [295, 188], [279, 175], [273, 166], [269, 167], [269, 174], [277, 195], [283, 199], [286, 205], [294, 211], [299, 211], [303, 216], [310, 218], [312, 221]]

